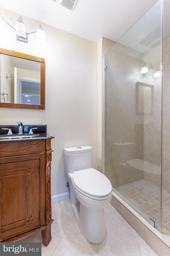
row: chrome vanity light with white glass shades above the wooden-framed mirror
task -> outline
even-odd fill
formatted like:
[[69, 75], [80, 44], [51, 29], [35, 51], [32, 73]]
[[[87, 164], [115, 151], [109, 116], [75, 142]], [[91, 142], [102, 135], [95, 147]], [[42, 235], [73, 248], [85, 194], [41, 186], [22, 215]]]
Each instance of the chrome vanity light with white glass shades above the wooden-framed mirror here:
[[[4, 24], [3, 21], [5, 21], [10, 27], [12, 27], [10, 25], [10, 23], [8, 23], [1, 15], [0, 13], [0, 30], [4, 31]], [[25, 31], [25, 25], [22, 19], [22, 16], [19, 16], [18, 20], [16, 21], [16, 25], [15, 28], [12, 27], [12, 29], [15, 30], [16, 32], [16, 40], [20, 41], [20, 42], [25, 42], [28, 43], [28, 35], [29, 34], [33, 34], [33, 33], [37, 33], [36, 35], [36, 41], [40, 42], [40, 43], [44, 43], [45, 42], [45, 34], [44, 34], [44, 30], [43, 27], [41, 25], [39, 25], [39, 27], [37, 28], [36, 31], [27, 33]]]

